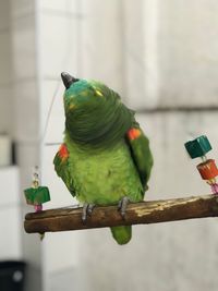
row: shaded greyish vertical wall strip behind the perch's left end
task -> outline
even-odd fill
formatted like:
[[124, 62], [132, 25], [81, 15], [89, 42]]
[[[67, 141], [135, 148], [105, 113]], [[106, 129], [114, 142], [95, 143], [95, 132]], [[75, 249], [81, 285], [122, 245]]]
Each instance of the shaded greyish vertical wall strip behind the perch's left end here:
[[[26, 205], [23, 190], [32, 184], [33, 167], [40, 166], [39, 88], [35, 1], [10, 1], [11, 59], [13, 89], [13, 135], [20, 168], [20, 211], [22, 220], [33, 207]], [[22, 223], [23, 225], [23, 223]], [[41, 290], [41, 244], [37, 234], [21, 228], [22, 258], [28, 264], [26, 290]]]

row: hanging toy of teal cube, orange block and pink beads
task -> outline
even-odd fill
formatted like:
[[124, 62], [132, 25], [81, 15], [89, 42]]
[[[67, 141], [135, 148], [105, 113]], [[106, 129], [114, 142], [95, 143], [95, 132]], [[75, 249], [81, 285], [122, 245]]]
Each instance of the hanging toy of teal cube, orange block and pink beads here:
[[218, 169], [214, 159], [207, 159], [206, 154], [211, 150], [211, 145], [206, 135], [198, 136], [184, 144], [186, 151], [192, 159], [202, 158], [202, 162], [196, 166], [203, 180], [210, 185], [211, 192], [218, 194], [218, 184], [216, 177]]

